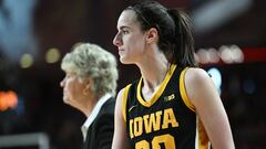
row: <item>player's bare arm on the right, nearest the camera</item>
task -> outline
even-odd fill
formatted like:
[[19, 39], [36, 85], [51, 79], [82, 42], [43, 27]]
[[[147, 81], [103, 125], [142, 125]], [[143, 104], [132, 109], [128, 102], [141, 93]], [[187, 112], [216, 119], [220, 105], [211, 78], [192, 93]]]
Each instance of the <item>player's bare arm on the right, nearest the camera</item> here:
[[195, 106], [213, 149], [234, 149], [226, 111], [207, 73], [201, 68], [188, 68], [185, 85], [187, 96]]

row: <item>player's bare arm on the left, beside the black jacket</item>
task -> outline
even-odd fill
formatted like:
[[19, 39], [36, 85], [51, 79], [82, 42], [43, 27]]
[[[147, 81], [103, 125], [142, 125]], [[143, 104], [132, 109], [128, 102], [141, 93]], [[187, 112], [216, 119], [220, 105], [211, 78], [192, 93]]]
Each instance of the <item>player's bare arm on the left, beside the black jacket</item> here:
[[122, 97], [123, 97], [123, 89], [120, 91], [116, 98], [116, 104], [115, 104], [114, 136], [113, 136], [112, 149], [130, 148], [130, 145], [126, 139], [125, 120], [122, 115]]

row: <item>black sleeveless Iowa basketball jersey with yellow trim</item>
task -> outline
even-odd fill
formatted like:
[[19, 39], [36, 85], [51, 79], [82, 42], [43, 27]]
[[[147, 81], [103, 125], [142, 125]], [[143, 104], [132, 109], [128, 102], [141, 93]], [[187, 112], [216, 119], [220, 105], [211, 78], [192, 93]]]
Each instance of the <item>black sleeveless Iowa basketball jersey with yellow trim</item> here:
[[122, 109], [132, 148], [209, 148], [206, 132], [185, 92], [186, 70], [172, 65], [149, 102], [142, 97], [142, 78], [124, 88]]

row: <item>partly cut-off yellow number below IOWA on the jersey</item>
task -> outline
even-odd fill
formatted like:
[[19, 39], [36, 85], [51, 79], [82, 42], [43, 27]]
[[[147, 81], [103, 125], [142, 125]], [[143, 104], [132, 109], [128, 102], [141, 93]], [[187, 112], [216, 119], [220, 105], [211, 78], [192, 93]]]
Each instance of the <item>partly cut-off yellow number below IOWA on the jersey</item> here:
[[175, 140], [171, 135], [156, 136], [152, 140], [152, 148], [149, 141], [141, 140], [135, 143], [135, 149], [175, 149]]

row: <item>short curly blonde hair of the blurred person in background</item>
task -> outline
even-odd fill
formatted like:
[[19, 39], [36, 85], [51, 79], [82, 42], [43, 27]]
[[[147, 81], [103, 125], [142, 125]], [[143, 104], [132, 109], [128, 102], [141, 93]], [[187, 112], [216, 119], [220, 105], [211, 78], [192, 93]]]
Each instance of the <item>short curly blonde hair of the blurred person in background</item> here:
[[63, 57], [61, 68], [76, 73], [80, 82], [92, 77], [93, 91], [99, 95], [115, 94], [119, 78], [116, 58], [96, 44], [80, 43], [73, 46], [73, 51]]

